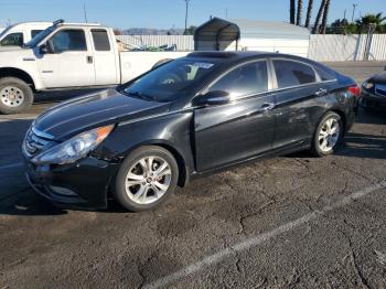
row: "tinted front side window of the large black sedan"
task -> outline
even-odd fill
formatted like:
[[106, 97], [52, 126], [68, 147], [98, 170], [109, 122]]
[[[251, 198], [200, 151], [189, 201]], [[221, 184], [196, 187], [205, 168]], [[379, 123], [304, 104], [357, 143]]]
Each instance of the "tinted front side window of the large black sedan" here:
[[268, 90], [267, 63], [259, 61], [239, 66], [219, 78], [208, 89], [223, 90], [232, 97]]

